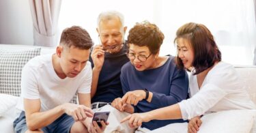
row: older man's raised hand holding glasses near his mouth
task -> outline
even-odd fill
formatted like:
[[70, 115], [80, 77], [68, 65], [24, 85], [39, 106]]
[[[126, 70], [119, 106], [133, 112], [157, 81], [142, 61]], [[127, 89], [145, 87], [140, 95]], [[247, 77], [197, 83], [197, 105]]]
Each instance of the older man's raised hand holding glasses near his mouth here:
[[104, 63], [104, 50], [101, 45], [94, 46], [94, 49], [91, 51], [91, 59], [94, 62], [94, 67], [98, 70], [101, 70]]

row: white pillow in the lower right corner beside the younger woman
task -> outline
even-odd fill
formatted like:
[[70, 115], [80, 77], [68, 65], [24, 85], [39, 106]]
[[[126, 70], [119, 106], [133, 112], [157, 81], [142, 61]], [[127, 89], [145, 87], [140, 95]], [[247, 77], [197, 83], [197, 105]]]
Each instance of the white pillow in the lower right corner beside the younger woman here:
[[250, 132], [255, 110], [224, 110], [204, 115], [198, 133], [241, 133]]

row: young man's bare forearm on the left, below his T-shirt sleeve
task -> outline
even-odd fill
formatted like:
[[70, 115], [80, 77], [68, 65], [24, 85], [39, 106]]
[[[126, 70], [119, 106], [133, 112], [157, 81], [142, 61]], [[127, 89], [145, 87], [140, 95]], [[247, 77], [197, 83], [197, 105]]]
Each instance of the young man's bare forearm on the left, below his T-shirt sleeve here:
[[57, 118], [63, 115], [64, 111], [61, 106], [57, 106], [51, 110], [26, 115], [27, 126], [29, 130], [38, 130], [53, 123]]

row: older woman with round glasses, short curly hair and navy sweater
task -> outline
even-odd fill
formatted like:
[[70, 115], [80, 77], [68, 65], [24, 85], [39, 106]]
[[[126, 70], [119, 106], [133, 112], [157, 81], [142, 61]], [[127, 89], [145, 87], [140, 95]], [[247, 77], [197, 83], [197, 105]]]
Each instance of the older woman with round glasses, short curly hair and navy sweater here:
[[[117, 110], [144, 113], [187, 98], [186, 72], [176, 68], [174, 57], [159, 56], [164, 38], [160, 29], [149, 22], [137, 23], [130, 29], [127, 53], [130, 62], [122, 67], [120, 76], [125, 95], [112, 102]], [[150, 121], [143, 123], [137, 132], [147, 132], [177, 122], [184, 121]]]

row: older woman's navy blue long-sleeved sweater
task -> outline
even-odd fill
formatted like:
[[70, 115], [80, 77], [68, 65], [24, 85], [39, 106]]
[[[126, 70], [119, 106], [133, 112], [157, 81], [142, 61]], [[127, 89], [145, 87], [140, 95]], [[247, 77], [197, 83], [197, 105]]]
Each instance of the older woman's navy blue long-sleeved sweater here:
[[[152, 101], [149, 103], [142, 100], [134, 106], [135, 113], [145, 113], [150, 110], [176, 104], [187, 98], [188, 75], [185, 70], [178, 70], [174, 63], [174, 57], [169, 57], [167, 62], [159, 68], [137, 71], [128, 62], [121, 70], [121, 83], [124, 93], [137, 89], [146, 88], [153, 93]], [[169, 123], [184, 122], [177, 120], [152, 120], [143, 123], [142, 127], [150, 130], [160, 128]]]

